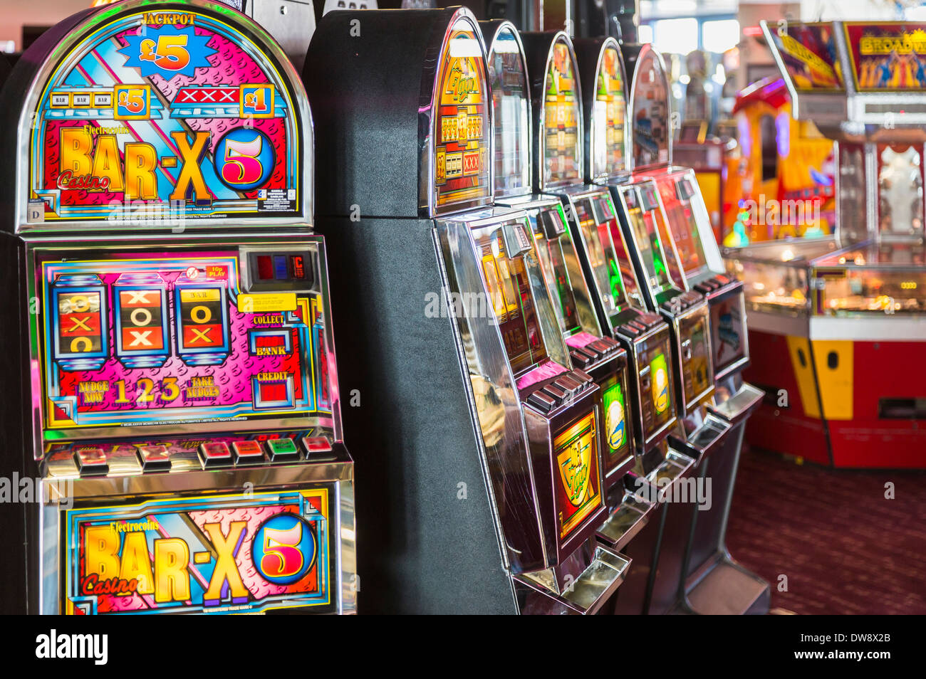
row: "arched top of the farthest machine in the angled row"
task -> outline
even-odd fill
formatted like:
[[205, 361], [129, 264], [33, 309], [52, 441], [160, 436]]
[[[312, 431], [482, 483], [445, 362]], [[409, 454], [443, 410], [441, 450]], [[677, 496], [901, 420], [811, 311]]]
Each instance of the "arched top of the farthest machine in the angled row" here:
[[[635, 58], [628, 51], [635, 53]], [[627, 107], [631, 118], [631, 169], [671, 165], [672, 107], [665, 62], [651, 44], [628, 46], [624, 56], [633, 73]]]

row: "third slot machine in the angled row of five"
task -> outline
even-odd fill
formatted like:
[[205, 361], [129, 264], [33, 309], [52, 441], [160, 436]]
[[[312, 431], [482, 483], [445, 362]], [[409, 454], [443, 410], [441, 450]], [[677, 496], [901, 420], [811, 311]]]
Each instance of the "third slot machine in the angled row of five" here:
[[[629, 249], [619, 228], [617, 213], [607, 186], [583, 183], [586, 149], [585, 130], [588, 112], [583, 109], [582, 77], [573, 45], [563, 32], [522, 33], [531, 76], [534, 136], [534, 185], [537, 191], [552, 193], [560, 198], [569, 222], [569, 237], [579, 256], [586, 286], [592, 292], [593, 308], [600, 327], [616, 339], [628, 354], [632, 380], [632, 412], [635, 415], [638, 456], [635, 477], [629, 480], [639, 489], [647, 489], [648, 500], [657, 502], [659, 513], [654, 517], [657, 536], [642, 535], [624, 553], [632, 554], [642, 564], [629, 579], [639, 577], [644, 582], [621, 587], [616, 601], [617, 612], [661, 612], [668, 609], [660, 603], [674, 595], [677, 576], [673, 563], [680, 562], [685, 545], [682, 529], [667, 536], [668, 525], [679, 522], [670, 516], [678, 510], [662, 502], [677, 488], [687, 483], [694, 461], [669, 442], [678, 424], [678, 401], [673, 391], [676, 366], [671, 355], [670, 329], [657, 314], [648, 311], [633, 269]], [[613, 48], [612, 43], [608, 43]], [[599, 45], [600, 48], [600, 45]], [[596, 52], [595, 56], [598, 56]], [[619, 68], [613, 59], [595, 59], [594, 65]], [[617, 66], [616, 66], [617, 65]], [[598, 79], [590, 76], [596, 92]], [[615, 89], [615, 85], [617, 88]], [[607, 82], [607, 93], [622, 92], [619, 78]], [[594, 107], [594, 105], [593, 105]], [[611, 113], [622, 114], [619, 101], [612, 101]], [[601, 130], [595, 130], [601, 131]], [[619, 144], [623, 135], [610, 134], [604, 157], [622, 153]], [[597, 135], [595, 135], [597, 140]], [[601, 154], [597, 159], [602, 158]], [[647, 532], [648, 533], [648, 532]], [[633, 585], [633, 586], [630, 586]]]

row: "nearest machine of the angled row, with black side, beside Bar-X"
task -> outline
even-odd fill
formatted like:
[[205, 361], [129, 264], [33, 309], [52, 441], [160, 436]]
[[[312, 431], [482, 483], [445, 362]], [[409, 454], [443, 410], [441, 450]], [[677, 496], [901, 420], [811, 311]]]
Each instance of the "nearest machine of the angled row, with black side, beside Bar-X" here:
[[630, 565], [594, 538], [601, 394], [569, 367], [526, 213], [494, 211], [484, 55], [461, 7], [332, 11], [307, 55], [319, 159], [343, 168], [317, 221], [356, 274], [333, 299], [360, 342], [345, 430], [372, 439], [359, 571], [370, 611], [594, 613]]

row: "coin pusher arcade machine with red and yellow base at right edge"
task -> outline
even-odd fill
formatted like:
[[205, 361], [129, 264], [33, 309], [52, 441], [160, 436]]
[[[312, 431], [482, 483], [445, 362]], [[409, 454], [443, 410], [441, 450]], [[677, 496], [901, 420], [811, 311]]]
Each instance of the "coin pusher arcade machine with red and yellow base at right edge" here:
[[[767, 409], [750, 429], [762, 447], [834, 466], [926, 464], [919, 358], [926, 54], [916, 38], [924, 28], [763, 25], [795, 118], [812, 118], [836, 142], [838, 169], [834, 236], [724, 253], [756, 309], [750, 325], [755, 316], [761, 340], [781, 346], [783, 339], [791, 354], [793, 370], [778, 365], [757, 376], [791, 397], [790, 408]], [[808, 429], [813, 448], [802, 443]]]

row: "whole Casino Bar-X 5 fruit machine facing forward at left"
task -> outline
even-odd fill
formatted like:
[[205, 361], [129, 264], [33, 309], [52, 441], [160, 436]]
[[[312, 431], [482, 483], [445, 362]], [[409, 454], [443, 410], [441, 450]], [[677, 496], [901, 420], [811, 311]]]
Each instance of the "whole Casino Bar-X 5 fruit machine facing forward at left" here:
[[3, 426], [42, 490], [6, 605], [356, 611], [312, 120], [280, 47], [222, 5], [88, 9], [2, 110]]

